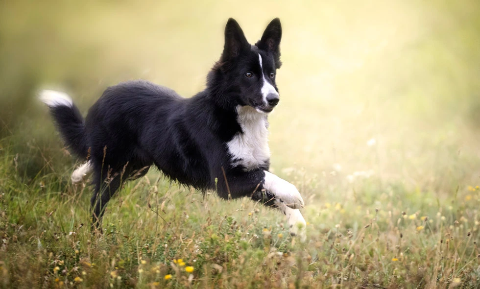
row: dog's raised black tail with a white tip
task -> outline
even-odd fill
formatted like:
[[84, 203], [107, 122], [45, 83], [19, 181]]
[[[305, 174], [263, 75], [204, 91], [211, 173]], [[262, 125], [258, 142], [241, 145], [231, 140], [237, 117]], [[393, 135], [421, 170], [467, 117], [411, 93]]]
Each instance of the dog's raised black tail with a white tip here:
[[50, 114], [65, 144], [72, 149], [73, 153], [86, 159], [88, 144], [85, 121], [73, 104], [72, 98], [65, 93], [53, 90], [41, 91], [39, 98], [50, 108]]

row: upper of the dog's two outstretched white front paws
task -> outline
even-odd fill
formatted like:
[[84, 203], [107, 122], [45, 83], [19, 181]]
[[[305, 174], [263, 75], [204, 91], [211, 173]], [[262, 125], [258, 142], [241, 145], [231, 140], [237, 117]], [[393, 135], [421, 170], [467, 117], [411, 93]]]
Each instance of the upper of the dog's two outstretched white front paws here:
[[[305, 203], [297, 188], [271, 172], [265, 172], [264, 189], [292, 209], [303, 208]], [[301, 215], [300, 215], [301, 216]], [[303, 217], [302, 217], [303, 218]]]

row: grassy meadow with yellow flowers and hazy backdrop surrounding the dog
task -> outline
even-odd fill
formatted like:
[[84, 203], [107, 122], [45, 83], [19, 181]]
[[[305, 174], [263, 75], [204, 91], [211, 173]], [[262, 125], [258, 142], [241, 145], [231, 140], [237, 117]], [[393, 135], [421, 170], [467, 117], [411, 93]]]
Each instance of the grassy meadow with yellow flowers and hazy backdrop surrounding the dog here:
[[[2, 288], [480, 288], [480, 2], [1, 1]], [[283, 25], [271, 170], [307, 241], [248, 199], [151, 169], [90, 231], [43, 88], [85, 115], [143, 78], [192, 96], [223, 49]]]

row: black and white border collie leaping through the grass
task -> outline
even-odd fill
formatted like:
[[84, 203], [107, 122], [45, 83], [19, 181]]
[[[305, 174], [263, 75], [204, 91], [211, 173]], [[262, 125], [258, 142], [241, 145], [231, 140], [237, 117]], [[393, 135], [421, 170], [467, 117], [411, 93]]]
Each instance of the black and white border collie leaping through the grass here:
[[72, 181], [94, 175], [94, 228], [122, 183], [155, 165], [201, 192], [215, 190], [223, 199], [248, 196], [276, 208], [287, 216], [290, 233], [305, 238], [302, 196], [268, 171], [267, 116], [279, 102], [281, 37], [277, 18], [250, 45], [230, 18], [206, 89], [191, 98], [148, 81], [127, 81], [107, 88], [84, 120], [66, 94], [41, 92], [66, 145], [86, 161]]

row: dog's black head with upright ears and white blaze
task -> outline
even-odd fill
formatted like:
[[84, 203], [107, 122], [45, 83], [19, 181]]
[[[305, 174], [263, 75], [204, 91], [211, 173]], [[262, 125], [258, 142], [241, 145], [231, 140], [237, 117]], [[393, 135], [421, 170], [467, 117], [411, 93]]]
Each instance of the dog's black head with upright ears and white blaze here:
[[240, 25], [230, 18], [225, 27], [225, 46], [217, 62], [215, 83], [231, 104], [248, 105], [261, 113], [269, 113], [279, 102], [275, 83], [280, 68], [282, 25], [275, 18], [266, 27], [262, 38], [250, 45]]

